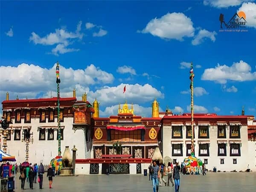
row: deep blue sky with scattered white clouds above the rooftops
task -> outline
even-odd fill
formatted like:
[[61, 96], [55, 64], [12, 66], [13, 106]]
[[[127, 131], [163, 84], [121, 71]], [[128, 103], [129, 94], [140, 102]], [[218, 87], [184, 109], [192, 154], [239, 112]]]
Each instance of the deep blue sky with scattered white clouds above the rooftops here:
[[[151, 102], [189, 112], [189, 62], [195, 112], [256, 115], [256, 4], [214, 1], [1, 1], [0, 100], [56, 95], [100, 102], [101, 116], [119, 102], [151, 115]], [[246, 32], [221, 32], [239, 11]], [[223, 24], [223, 29], [226, 29]]]

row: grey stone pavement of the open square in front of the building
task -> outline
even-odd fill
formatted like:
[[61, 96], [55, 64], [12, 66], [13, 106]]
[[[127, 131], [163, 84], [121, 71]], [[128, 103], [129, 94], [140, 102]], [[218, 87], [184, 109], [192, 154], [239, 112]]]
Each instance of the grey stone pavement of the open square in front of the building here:
[[[46, 174], [44, 175], [46, 176]], [[165, 176], [167, 180], [167, 176]], [[208, 173], [181, 175], [180, 192], [254, 192], [256, 172], [251, 173]], [[21, 192], [20, 180], [16, 180], [15, 192]], [[48, 178], [44, 177], [43, 189], [38, 183], [34, 189], [25, 184], [23, 192], [152, 192], [152, 182], [143, 175], [79, 175], [53, 177], [53, 189], [49, 189]], [[160, 186], [159, 192], [175, 192], [174, 187]]]

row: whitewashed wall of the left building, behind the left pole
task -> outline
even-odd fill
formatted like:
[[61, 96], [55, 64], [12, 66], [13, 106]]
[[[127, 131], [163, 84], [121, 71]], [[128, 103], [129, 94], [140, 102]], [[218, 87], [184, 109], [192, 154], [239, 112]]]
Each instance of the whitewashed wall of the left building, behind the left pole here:
[[[15, 122], [14, 119], [12, 122]], [[40, 123], [39, 118], [31, 118], [31, 123], [24, 123], [24, 119], [21, 119], [22, 123], [13, 123], [12, 126], [32, 126], [30, 133], [33, 132], [33, 144], [29, 143], [29, 162], [30, 163], [40, 163], [43, 160], [43, 164], [49, 164], [50, 160], [58, 155], [58, 140], [57, 140], [57, 130], [54, 131], [54, 140], [39, 140], [39, 126], [57, 126], [57, 118], [55, 122]], [[64, 117], [64, 122], [61, 122], [61, 126], [65, 126], [63, 134], [64, 140], [61, 140], [61, 155], [63, 155], [65, 146], [69, 146], [71, 149], [73, 145], [76, 145], [77, 157], [85, 157], [85, 142], [84, 142], [84, 131], [76, 130], [73, 131], [73, 117]], [[22, 138], [22, 131], [20, 136]], [[26, 160], [26, 142], [21, 142], [21, 140], [14, 140], [14, 133], [11, 134], [11, 141], [7, 141], [7, 153], [14, 155], [17, 163], [22, 163]], [[3, 146], [3, 139], [1, 140], [1, 145]], [[3, 149], [3, 147], [2, 147]]]

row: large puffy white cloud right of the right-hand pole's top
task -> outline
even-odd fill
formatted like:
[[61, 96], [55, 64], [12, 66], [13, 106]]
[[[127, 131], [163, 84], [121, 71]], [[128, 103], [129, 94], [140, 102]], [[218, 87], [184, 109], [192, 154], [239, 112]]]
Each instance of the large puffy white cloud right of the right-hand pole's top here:
[[250, 65], [239, 61], [230, 67], [218, 64], [215, 68], [205, 69], [201, 79], [216, 81], [220, 84], [226, 84], [227, 80], [252, 81], [256, 80], [256, 72], [251, 73]]

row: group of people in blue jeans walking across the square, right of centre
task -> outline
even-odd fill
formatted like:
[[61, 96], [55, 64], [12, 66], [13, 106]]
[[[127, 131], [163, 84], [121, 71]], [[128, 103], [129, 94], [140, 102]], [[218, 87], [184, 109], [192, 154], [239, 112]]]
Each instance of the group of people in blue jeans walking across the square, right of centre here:
[[[180, 165], [179, 162], [176, 161], [175, 166], [172, 165], [171, 162], [168, 163], [168, 181], [166, 182], [164, 179], [164, 175], [166, 172], [165, 165], [160, 162], [158, 163], [156, 160], [153, 161], [148, 167], [149, 169], [149, 180], [152, 180], [153, 183], [153, 191], [158, 192], [158, 183], [162, 186], [162, 182], [165, 186], [169, 186], [169, 181], [171, 181], [172, 186], [175, 186], [175, 192], [179, 192], [180, 188]], [[173, 180], [174, 179], [174, 182]]]

